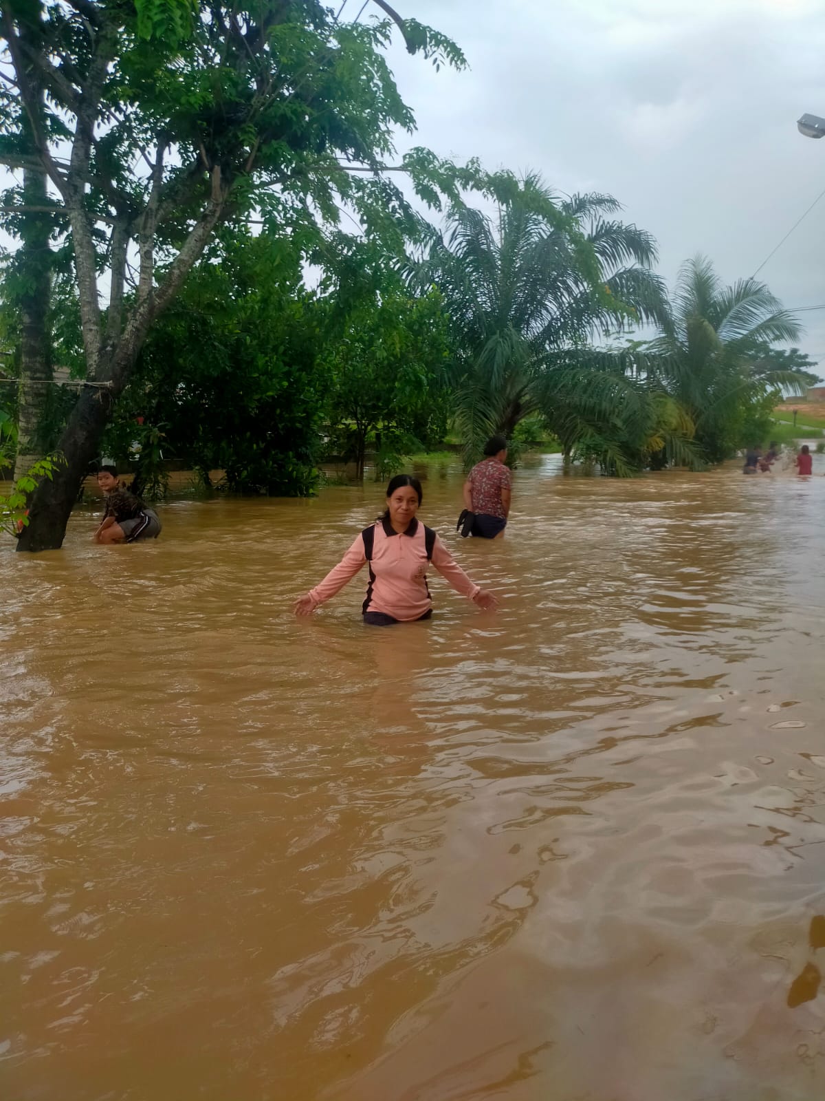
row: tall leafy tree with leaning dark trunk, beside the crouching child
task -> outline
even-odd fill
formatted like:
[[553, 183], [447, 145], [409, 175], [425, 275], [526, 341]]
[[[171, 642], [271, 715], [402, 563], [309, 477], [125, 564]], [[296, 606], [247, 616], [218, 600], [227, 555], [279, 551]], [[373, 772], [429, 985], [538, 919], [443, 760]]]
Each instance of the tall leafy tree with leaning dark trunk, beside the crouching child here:
[[[317, 0], [10, 0], [1, 11], [0, 161], [50, 182], [44, 207], [70, 233], [97, 384], [61, 440], [66, 467], [35, 497], [20, 546], [36, 549], [59, 546], [146, 335], [219, 225], [255, 214], [309, 250], [342, 209], [367, 237], [404, 240], [420, 218], [383, 171], [395, 132], [414, 128], [383, 53], [393, 18], [342, 22]], [[437, 66], [464, 64], [436, 31], [400, 30]], [[420, 149], [397, 167], [429, 203], [461, 177]]]

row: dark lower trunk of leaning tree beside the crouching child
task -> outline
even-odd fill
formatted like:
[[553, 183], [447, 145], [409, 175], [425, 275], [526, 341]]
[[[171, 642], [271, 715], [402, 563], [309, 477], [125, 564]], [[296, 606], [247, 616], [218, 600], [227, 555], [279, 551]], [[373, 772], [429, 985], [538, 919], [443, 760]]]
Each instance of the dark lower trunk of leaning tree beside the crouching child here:
[[63, 546], [78, 488], [98, 453], [112, 403], [107, 390], [88, 386], [80, 394], [57, 445], [66, 464], [55, 471], [52, 481], [44, 479], [37, 488], [18, 550], [58, 550]]

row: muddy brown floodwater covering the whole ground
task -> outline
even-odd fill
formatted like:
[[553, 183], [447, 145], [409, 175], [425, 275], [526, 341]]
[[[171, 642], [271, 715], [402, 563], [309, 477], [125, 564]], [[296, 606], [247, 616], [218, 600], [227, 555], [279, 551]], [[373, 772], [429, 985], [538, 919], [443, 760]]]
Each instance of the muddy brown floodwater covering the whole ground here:
[[3, 545], [4, 1101], [823, 1097], [825, 478], [460, 483], [384, 631], [372, 484]]

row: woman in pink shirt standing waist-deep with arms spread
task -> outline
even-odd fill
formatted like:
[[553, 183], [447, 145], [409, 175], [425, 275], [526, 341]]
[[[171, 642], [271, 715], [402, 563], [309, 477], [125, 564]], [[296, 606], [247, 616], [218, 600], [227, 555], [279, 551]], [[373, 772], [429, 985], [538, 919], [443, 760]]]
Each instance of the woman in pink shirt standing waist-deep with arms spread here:
[[421, 504], [421, 483], [410, 475], [396, 475], [387, 487], [383, 516], [358, 536], [334, 569], [320, 585], [295, 602], [296, 615], [311, 615], [319, 604], [334, 597], [370, 564], [370, 584], [362, 608], [364, 622], [375, 626], [429, 619], [432, 614], [427, 566], [431, 562], [450, 585], [480, 608], [494, 608], [496, 598], [473, 585], [453, 562], [436, 533], [416, 519]]

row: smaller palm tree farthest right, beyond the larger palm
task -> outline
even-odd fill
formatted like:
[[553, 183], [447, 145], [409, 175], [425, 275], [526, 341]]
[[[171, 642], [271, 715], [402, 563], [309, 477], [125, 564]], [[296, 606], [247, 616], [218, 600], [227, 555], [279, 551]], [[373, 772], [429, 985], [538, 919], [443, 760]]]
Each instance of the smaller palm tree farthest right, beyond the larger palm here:
[[679, 273], [661, 336], [647, 346], [650, 378], [691, 418], [706, 459], [718, 462], [737, 446], [749, 405], [771, 391], [799, 391], [803, 375], [765, 359], [766, 345], [796, 340], [800, 325], [763, 283], [724, 286], [704, 257]]

